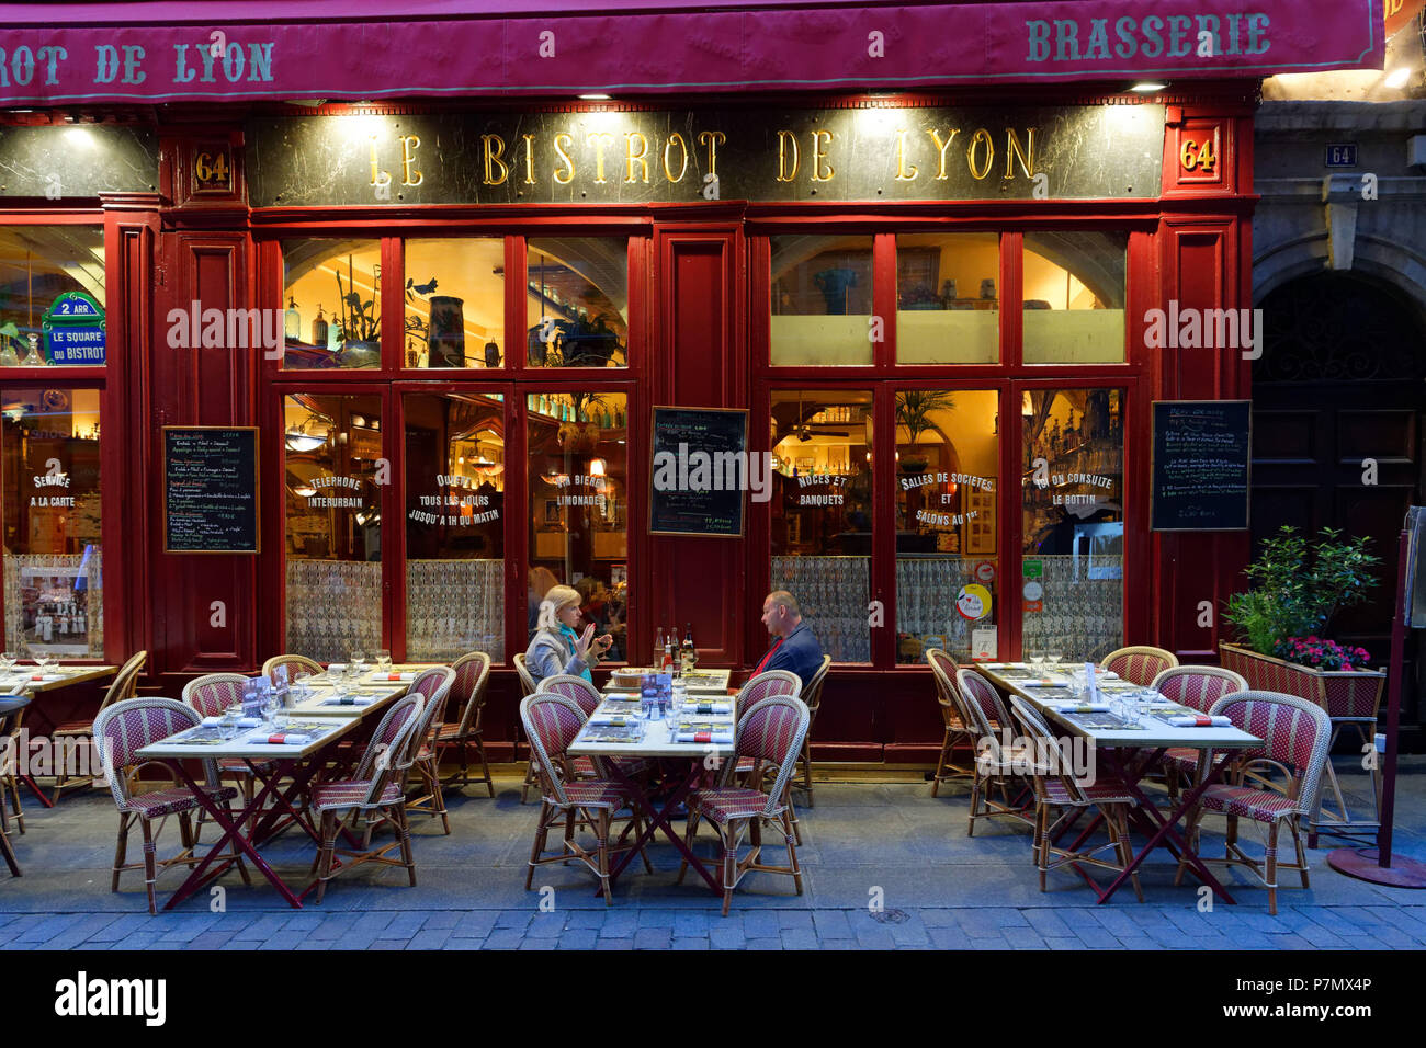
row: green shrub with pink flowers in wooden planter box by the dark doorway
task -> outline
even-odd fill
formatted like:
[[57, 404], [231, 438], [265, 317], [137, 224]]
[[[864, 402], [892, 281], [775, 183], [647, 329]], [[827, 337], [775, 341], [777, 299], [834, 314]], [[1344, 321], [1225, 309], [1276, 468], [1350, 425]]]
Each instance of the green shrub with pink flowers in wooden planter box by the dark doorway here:
[[1241, 643], [1221, 643], [1226, 669], [1255, 690], [1285, 692], [1322, 706], [1330, 717], [1375, 717], [1386, 674], [1366, 669], [1369, 654], [1325, 639], [1343, 607], [1366, 600], [1380, 558], [1369, 539], [1323, 528], [1315, 540], [1291, 526], [1263, 543], [1224, 619]]

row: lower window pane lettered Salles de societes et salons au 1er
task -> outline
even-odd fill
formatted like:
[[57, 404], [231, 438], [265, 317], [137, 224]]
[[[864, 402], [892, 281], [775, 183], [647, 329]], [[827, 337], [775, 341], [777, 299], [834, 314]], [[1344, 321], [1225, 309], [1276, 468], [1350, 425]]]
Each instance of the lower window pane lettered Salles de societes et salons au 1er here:
[[903, 389], [896, 421], [897, 662], [968, 662], [1001, 612], [1000, 394]]

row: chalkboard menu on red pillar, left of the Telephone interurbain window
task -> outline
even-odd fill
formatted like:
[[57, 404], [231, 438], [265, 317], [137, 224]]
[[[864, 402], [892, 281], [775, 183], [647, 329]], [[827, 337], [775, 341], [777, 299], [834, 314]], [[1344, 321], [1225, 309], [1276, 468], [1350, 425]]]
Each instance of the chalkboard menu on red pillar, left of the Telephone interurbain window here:
[[164, 426], [164, 552], [258, 552], [257, 426]]

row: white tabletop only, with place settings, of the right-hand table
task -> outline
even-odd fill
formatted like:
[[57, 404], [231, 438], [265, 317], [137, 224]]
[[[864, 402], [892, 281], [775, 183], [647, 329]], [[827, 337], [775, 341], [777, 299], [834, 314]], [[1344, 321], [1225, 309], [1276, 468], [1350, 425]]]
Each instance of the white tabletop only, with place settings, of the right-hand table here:
[[[1041, 713], [1064, 726], [1068, 731], [1092, 740], [1095, 746], [1175, 746], [1192, 750], [1245, 750], [1253, 746], [1262, 746], [1262, 739], [1232, 726], [1178, 727], [1148, 713], [1139, 717], [1139, 727], [1137, 729], [1087, 727], [1079, 723], [1079, 719], [1075, 716], [1075, 707], [1079, 703], [1070, 687], [1068, 670], [1072, 667], [1068, 664], [1030, 666], [1028, 663], [977, 663], [974, 664], [974, 669], [978, 670], [981, 676], [988, 677], [1007, 692], [1021, 696]], [[1052, 682], [1057, 686], [1038, 687], [1031, 683], [1032, 679]], [[1112, 674], [1108, 674], [1105, 686], [1107, 690], [1099, 696], [1101, 702], [1112, 702], [1115, 692], [1128, 690], [1138, 692], [1139, 694], [1156, 696], [1156, 699], [1152, 700], [1155, 704], [1165, 707], [1172, 706], [1175, 710], [1181, 710], [1188, 716], [1198, 713], [1198, 710], [1192, 710], [1186, 706], [1179, 706], [1168, 699], [1164, 699], [1158, 694], [1158, 692], [1152, 692], [1151, 689], [1134, 689], [1125, 682], [1119, 682]]]

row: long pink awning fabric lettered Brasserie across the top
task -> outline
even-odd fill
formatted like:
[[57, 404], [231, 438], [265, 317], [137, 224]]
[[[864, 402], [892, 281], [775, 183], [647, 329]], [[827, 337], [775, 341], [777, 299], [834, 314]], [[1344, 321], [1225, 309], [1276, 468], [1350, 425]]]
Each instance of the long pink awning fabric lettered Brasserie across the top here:
[[0, 3], [0, 106], [931, 90], [1380, 68], [1382, 0]]

